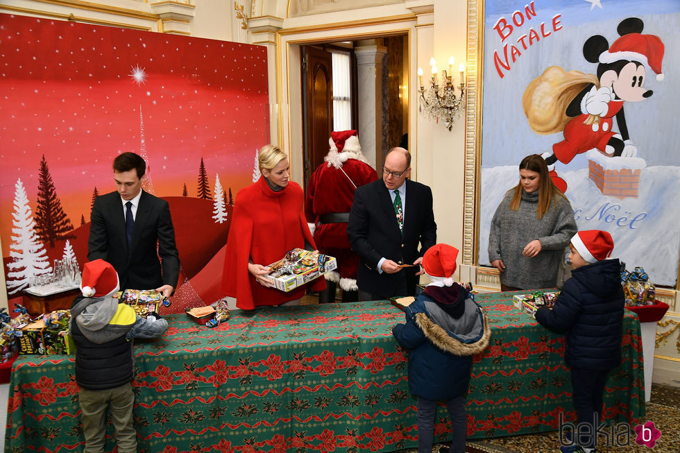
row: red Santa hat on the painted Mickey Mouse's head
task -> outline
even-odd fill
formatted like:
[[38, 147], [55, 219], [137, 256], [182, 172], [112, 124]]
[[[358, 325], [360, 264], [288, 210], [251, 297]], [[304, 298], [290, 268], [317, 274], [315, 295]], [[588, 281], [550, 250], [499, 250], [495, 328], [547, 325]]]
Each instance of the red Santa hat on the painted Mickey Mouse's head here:
[[661, 60], [663, 60], [663, 42], [656, 35], [627, 33], [615, 40], [609, 50], [600, 54], [601, 63], [613, 63], [618, 60], [637, 61], [656, 73], [656, 80], [663, 80]]

